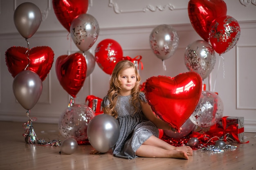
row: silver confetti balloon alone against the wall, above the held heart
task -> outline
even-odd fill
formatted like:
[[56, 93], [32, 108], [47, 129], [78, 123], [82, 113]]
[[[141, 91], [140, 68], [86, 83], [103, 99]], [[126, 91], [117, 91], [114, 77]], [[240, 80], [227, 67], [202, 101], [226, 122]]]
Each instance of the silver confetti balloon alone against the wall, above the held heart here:
[[149, 43], [155, 55], [161, 60], [166, 60], [170, 58], [178, 48], [179, 35], [170, 25], [158, 25], [150, 33]]

